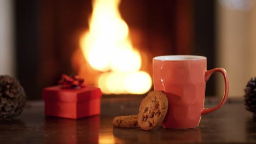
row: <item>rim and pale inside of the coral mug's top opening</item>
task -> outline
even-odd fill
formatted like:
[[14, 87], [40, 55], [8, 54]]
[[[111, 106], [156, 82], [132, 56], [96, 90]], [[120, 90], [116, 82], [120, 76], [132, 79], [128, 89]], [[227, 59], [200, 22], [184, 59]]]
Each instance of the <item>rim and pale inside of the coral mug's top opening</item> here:
[[206, 57], [197, 55], [165, 55], [153, 58], [154, 61], [198, 61], [202, 59], [206, 59]]

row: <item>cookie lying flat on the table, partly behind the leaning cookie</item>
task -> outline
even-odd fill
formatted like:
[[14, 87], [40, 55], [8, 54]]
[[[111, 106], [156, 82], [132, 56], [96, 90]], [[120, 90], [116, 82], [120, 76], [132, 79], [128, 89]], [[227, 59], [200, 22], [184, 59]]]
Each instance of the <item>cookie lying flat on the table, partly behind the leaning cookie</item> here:
[[113, 124], [119, 128], [138, 128], [137, 117], [137, 115], [118, 116], [113, 119]]

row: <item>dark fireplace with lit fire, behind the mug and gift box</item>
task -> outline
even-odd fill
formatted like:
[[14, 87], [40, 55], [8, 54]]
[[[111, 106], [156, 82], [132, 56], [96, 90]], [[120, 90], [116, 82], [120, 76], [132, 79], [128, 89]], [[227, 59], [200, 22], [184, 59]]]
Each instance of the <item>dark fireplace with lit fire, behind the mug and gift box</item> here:
[[[17, 70], [28, 99], [39, 99], [40, 89], [56, 85], [62, 74], [79, 74], [105, 95], [144, 95], [153, 90], [152, 58], [159, 55], [204, 55], [208, 69], [214, 67], [213, 1], [26, 2], [15, 5]], [[25, 31], [26, 25], [33, 27]], [[213, 95], [214, 81], [207, 87]]]

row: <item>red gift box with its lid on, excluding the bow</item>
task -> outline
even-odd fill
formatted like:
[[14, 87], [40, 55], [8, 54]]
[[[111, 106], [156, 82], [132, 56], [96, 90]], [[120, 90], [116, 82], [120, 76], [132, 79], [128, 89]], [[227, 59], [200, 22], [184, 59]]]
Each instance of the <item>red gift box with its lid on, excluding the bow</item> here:
[[82, 87], [62, 89], [61, 86], [43, 89], [44, 113], [46, 116], [78, 119], [100, 115], [101, 89]]

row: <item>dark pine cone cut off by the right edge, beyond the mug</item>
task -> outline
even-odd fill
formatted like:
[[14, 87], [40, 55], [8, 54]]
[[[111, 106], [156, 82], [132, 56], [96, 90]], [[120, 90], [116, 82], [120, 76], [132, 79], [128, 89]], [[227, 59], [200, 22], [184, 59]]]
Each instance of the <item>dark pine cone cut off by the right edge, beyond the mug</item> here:
[[256, 113], [256, 77], [247, 83], [245, 93], [246, 110]]

